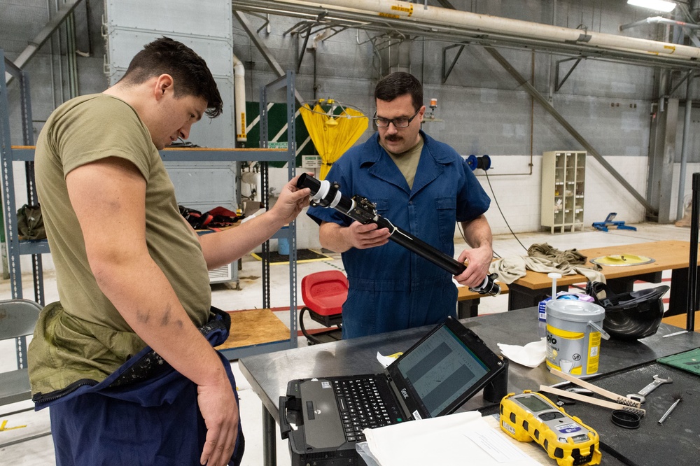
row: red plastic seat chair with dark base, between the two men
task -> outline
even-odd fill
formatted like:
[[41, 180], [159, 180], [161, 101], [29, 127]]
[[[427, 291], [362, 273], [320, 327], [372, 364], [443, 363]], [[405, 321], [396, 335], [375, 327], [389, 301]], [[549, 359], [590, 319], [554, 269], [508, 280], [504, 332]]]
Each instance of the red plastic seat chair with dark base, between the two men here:
[[[343, 303], [347, 296], [348, 279], [342, 271], [320, 271], [302, 278], [304, 307], [299, 314], [299, 327], [310, 344], [340, 339]], [[304, 327], [304, 311], [308, 311], [311, 319], [325, 325], [325, 327], [335, 326], [336, 328], [309, 334]]]

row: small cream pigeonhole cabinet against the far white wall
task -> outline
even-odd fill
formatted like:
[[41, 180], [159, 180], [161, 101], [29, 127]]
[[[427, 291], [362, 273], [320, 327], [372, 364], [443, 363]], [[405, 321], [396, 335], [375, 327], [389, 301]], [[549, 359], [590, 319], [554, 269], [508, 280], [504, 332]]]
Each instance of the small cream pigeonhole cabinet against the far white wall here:
[[586, 153], [553, 150], [542, 154], [542, 221], [552, 233], [583, 231]]

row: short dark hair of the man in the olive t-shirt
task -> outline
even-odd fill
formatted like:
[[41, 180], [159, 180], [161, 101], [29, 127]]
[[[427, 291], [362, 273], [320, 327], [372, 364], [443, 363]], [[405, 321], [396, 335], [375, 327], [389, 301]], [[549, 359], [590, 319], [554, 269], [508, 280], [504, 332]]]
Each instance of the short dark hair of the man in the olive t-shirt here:
[[169, 74], [175, 80], [175, 96], [193, 95], [207, 101], [207, 116], [216, 118], [223, 111], [221, 94], [207, 62], [187, 45], [169, 37], [144, 45], [129, 64], [120, 81], [141, 84], [153, 76]]

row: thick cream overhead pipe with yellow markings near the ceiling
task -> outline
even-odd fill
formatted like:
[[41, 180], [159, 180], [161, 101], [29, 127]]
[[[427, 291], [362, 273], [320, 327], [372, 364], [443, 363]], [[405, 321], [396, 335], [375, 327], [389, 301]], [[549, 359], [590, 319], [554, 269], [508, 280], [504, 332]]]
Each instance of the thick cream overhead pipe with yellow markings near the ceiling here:
[[585, 43], [601, 48], [629, 50], [652, 55], [668, 55], [683, 59], [700, 59], [700, 48], [689, 47], [643, 38], [615, 36], [602, 32], [572, 29], [549, 24], [511, 20], [504, 17], [481, 15], [468, 11], [450, 10], [435, 6], [421, 6], [396, 0], [353, 0], [348, 8], [346, 0], [324, 0], [323, 3], [301, 0], [276, 0], [276, 3], [299, 4], [337, 10], [364, 11], [379, 17], [395, 18], [425, 24], [447, 24], [468, 27], [475, 31], [505, 32], [514, 36], [538, 38], [560, 43]]

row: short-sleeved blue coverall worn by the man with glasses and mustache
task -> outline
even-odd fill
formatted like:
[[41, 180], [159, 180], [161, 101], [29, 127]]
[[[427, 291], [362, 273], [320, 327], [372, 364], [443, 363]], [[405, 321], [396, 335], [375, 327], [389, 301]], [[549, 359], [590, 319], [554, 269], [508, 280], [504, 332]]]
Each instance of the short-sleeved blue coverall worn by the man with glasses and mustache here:
[[[347, 197], [366, 197], [393, 225], [454, 257], [455, 223], [477, 218], [491, 199], [456, 150], [420, 134], [423, 151], [412, 189], [379, 145], [378, 134], [340, 157], [326, 180], [339, 183]], [[319, 225], [353, 222], [323, 207], [311, 207], [307, 214]], [[452, 275], [398, 243], [350, 248], [342, 260], [349, 281], [343, 338], [434, 325], [456, 314]]]

